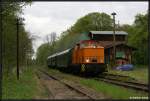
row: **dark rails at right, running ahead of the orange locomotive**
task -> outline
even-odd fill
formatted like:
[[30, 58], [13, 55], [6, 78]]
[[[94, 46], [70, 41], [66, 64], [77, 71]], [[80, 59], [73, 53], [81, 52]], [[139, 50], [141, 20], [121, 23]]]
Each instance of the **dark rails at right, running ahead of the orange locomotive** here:
[[129, 76], [115, 75], [115, 74], [104, 74], [95, 78], [96, 80], [112, 83], [115, 85], [131, 88], [138, 91], [148, 92], [148, 84], [137, 82], [134, 78]]

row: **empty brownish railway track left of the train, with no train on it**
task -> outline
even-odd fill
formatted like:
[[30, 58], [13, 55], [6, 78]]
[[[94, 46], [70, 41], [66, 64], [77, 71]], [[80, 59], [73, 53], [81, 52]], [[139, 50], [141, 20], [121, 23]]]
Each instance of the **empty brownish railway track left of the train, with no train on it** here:
[[[50, 99], [91, 99], [91, 100], [97, 99], [94, 95], [85, 92], [79, 87], [74, 87], [72, 84], [64, 82], [60, 78], [55, 77], [54, 75], [50, 75], [45, 71], [39, 70], [36, 74], [39, 79], [48, 80], [47, 84], [45, 83], [44, 86], [46, 86], [46, 88], [49, 89], [48, 92]], [[50, 81], [51, 84], [48, 83]], [[56, 87], [57, 91], [53, 89], [55, 88], [56, 84], [54, 84], [53, 87], [49, 87], [50, 85], [53, 84], [52, 82], [56, 83], [59, 86], [59, 88]], [[60, 92], [58, 92], [59, 89], [63, 90], [60, 90]]]

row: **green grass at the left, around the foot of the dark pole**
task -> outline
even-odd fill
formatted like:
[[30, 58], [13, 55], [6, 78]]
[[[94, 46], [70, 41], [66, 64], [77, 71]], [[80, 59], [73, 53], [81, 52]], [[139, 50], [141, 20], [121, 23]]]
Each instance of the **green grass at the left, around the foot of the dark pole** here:
[[36, 92], [37, 83], [33, 69], [25, 69], [19, 80], [14, 73], [9, 77], [3, 75], [2, 99], [34, 99]]

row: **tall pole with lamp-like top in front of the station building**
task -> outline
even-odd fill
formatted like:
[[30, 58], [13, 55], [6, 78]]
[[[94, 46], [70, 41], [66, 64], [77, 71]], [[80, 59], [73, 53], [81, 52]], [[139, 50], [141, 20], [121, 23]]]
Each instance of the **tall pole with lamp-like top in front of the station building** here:
[[114, 50], [114, 56], [113, 56], [113, 62], [114, 62], [114, 66], [116, 64], [116, 47], [115, 47], [115, 41], [116, 41], [116, 38], [115, 38], [115, 15], [116, 13], [113, 12], [111, 14], [113, 16], [113, 50]]

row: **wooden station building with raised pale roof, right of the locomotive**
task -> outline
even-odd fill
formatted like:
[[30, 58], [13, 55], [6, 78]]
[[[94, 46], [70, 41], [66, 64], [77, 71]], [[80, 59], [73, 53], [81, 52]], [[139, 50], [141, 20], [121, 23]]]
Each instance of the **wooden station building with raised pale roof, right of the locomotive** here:
[[[90, 31], [90, 39], [98, 40], [105, 49], [105, 63], [110, 64], [113, 61], [113, 31]], [[124, 31], [115, 31], [116, 64], [131, 64], [132, 53], [136, 48], [127, 45], [128, 33]]]

